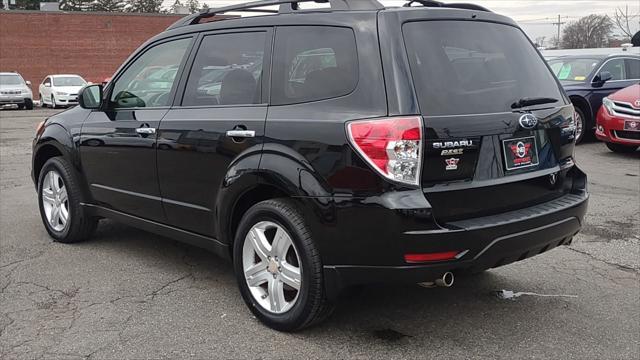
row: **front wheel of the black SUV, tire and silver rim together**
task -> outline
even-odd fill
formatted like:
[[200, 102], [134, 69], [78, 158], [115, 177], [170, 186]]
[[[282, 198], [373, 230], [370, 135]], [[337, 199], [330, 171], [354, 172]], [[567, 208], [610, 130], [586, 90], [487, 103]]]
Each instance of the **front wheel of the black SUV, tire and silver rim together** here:
[[71, 165], [62, 157], [49, 159], [38, 177], [38, 205], [54, 241], [74, 243], [93, 234], [98, 220], [80, 205], [84, 201]]

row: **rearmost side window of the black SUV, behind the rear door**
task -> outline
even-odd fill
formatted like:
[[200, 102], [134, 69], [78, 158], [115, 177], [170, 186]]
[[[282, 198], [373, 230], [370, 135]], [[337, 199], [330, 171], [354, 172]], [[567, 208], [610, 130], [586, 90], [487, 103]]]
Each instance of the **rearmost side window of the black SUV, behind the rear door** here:
[[272, 104], [284, 105], [349, 94], [358, 79], [353, 30], [287, 26], [276, 32]]

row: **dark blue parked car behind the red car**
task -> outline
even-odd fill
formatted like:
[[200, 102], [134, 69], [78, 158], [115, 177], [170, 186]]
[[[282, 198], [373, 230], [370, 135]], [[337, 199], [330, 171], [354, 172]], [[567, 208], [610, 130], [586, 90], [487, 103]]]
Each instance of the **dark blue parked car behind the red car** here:
[[549, 60], [549, 66], [576, 108], [577, 142], [593, 134], [605, 96], [640, 80], [640, 55], [561, 56]]

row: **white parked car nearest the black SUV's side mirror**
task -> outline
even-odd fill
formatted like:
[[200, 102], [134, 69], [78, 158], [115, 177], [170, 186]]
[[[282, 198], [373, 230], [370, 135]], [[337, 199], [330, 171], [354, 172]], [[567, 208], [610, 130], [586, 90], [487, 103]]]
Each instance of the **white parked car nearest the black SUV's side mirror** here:
[[69, 106], [78, 104], [78, 91], [87, 85], [80, 75], [49, 75], [40, 84], [40, 105]]

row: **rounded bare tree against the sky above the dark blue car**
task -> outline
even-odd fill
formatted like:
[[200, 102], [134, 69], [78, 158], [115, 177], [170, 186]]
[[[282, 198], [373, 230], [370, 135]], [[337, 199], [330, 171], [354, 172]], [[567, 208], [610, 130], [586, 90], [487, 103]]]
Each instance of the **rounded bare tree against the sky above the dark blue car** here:
[[604, 47], [613, 32], [613, 22], [607, 15], [592, 14], [567, 25], [562, 33], [562, 47], [585, 49]]

